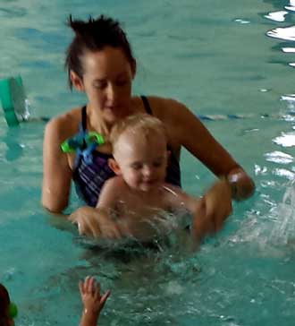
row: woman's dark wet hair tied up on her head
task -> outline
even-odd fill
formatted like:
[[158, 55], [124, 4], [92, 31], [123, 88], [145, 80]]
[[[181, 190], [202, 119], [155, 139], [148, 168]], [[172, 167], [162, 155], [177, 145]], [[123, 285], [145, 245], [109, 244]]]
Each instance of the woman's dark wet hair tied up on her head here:
[[72, 15], [70, 15], [67, 25], [75, 33], [72, 43], [67, 48], [64, 64], [68, 72], [68, 81], [71, 89], [70, 73], [73, 71], [82, 79], [83, 65], [81, 58], [88, 51], [96, 52], [104, 47], [121, 48], [135, 72], [136, 60], [132, 55], [131, 45], [119, 21], [114, 21], [103, 14], [97, 19], [89, 16], [88, 21], [72, 20]]

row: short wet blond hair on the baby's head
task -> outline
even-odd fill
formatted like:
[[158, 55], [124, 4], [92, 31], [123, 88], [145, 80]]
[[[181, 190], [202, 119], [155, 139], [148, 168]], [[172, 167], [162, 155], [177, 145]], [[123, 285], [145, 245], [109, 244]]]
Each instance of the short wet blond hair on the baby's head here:
[[139, 113], [132, 116], [127, 116], [122, 120], [119, 120], [114, 124], [111, 134], [110, 142], [113, 149], [118, 139], [127, 130], [131, 130], [134, 133], [147, 136], [151, 133], [163, 135], [167, 139], [167, 132], [164, 124], [156, 116], [147, 115], [146, 113]]

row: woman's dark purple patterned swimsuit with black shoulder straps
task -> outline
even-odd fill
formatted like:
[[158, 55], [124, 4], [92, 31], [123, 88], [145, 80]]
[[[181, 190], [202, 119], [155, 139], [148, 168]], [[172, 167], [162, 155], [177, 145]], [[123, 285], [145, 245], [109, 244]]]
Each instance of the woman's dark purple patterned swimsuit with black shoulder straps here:
[[[141, 99], [147, 113], [152, 115], [152, 110], [147, 98], [141, 96]], [[82, 107], [81, 109], [81, 128], [85, 133], [87, 133], [86, 107]], [[170, 150], [169, 145], [167, 148]], [[86, 162], [85, 159], [83, 159], [83, 156], [76, 158], [72, 179], [79, 197], [89, 206], [95, 207], [97, 205], [99, 193], [101, 192], [105, 181], [115, 176], [113, 170], [107, 163], [108, 159], [111, 158], [113, 158], [111, 154], [105, 154], [98, 150], [92, 151], [91, 163]], [[181, 186], [180, 164], [173, 154], [173, 151], [171, 151], [166, 172], [166, 183]]]

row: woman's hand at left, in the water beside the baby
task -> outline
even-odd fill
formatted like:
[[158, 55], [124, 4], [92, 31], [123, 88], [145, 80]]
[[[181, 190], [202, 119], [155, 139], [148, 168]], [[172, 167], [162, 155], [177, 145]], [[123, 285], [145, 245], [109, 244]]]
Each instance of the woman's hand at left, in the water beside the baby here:
[[106, 210], [83, 206], [75, 210], [69, 219], [77, 224], [80, 235], [106, 239], [122, 237], [122, 230]]

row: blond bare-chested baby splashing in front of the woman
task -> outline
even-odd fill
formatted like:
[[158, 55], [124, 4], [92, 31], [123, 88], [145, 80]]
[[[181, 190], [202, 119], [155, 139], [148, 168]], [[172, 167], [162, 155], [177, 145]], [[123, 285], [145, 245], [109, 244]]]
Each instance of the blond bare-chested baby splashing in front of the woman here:
[[[215, 229], [206, 218], [206, 195], [214, 195], [220, 186], [230, 192], [230, 186], [225, 180], [218, 181], [203, 198], [194, 198], [165, 183], [170, 153], [159, 119], [147, 114], [128, 116], [114, 125], [110, 141], [114, 159], [109, 160], [109, 166], [116, 176], [105, 182], [95, 209], [82, 207], [71, 216], [80, 234], [131, 236], [146, 242], [167, 229], [164, 212], [183, 209], [192, 215], [191, 229], [196, 239]], [[92, 228], [92, 222], [98, 228]]]

